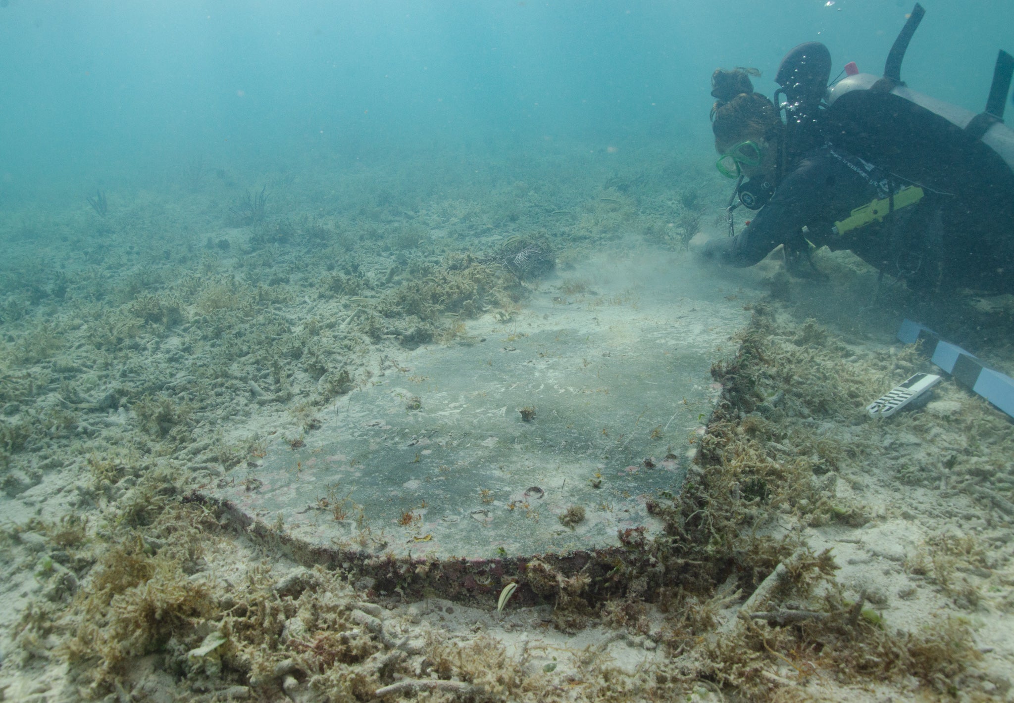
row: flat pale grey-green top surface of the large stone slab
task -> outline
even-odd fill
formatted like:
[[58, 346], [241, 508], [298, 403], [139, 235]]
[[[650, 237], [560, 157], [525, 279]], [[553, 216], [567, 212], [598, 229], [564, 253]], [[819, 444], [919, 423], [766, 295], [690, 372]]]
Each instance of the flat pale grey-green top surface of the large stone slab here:
[[646, 500], [680, 489], [745, 313], [715, 286], [648, 288], [536, 292], [517, 321], [407, 353], [206, 494], [310, 548], [397, 557], [567, 554], [654, 530]]

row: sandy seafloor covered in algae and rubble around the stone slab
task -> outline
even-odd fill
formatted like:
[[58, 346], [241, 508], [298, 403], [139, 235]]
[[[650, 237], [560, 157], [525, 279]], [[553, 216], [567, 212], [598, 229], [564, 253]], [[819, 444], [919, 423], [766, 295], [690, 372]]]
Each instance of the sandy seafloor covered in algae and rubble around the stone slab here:
[[[7, 193], [0, 699], [1014, 698], [1008, 418], [950, 380], [922, 410], [863, 412], [930, 370], [894, 340], [902, 317], [1014, 372], [1014, 306], [933, 304], [890, 282], [873, 302], [875, 272], [826, 251], [815, 280], [777, 255], [698, 267], [685, 241], [722, 234], [727, 198], [709, 168], [664, 147], [547, 143], [209, 156], [144, 187], [106, 178], [104, 215], [89, 187]], [[503, 265], [529, 246], [538, 265]], [[404, 373], [421, 344], [506, 339], [536, 288], [636, 305], [637, 272], [667, 264], [754, 314], [715, 349], [728, 402], [694, 474], [710, 501], [672, 518], [734, 519], [687, 528], [701, 542], [682, 561], [652, 552], [700, 577], [647, 589], [632, 570], [602, 602], [550, 574], [540, 605], [497, 615], [495, 596], [380, 592], [296, 564], [190, 499], [273, 433], [312, 432], [337, 399]], [[768, 578], [780, 562], [789, 580]]]

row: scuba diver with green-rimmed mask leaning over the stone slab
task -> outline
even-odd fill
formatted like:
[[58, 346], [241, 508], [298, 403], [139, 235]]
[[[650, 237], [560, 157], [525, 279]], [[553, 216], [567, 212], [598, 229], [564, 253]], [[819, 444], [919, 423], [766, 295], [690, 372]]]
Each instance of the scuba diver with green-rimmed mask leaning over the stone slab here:
[[[980, 114], [910, 90], [901, 59], [923, 14], [917, 4], [882, 78], [849, 64], [827, 87], [830, 54], [815, 42], [783, 60], [775, 101], [753, 91], [755, 70], [715, 71], [717, 166], [737, 181], [730, 236], [706, 242], [705, 258], [750, 266], [782, 245], [805, 275], [827, 246], [916, 291], [1014, 293], [1014, 131], [1003, 124], [1014, 58], [1000, 52]], [[736, 234], [739, 205], [756, 213]]]

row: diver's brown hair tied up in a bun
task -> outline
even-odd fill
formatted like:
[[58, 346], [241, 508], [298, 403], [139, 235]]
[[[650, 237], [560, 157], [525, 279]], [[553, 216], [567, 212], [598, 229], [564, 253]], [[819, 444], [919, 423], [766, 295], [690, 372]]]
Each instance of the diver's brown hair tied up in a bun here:
[[748, 136], [773, 140], [782, 129], [782, 119], [775, 103], [753, 92], [750, 76], [759, 76], [755, 68], [717, 69], [711, 74], [711, 94], [716, 98], [711, 108], [711, 131], [717, 142], [734, 142]]

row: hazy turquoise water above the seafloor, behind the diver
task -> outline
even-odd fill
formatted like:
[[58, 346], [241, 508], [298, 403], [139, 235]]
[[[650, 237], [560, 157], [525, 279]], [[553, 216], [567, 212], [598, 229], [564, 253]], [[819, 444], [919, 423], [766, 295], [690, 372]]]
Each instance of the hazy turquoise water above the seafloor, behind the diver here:
[[[45, 2], [0, 8], [5, 190], [286, 159], [580, 140], [709, 147], [709, 77], [796, 44], [879, 73], [901, 0]], [[911, 85], [977, 111], [1003, 0], [933, 3]], [[876, 69], [876, 70], [874, 70]], [[760, 89], [772, 87], [763, 84]], [[932, 91], [931, 91], [932, 89]]]

